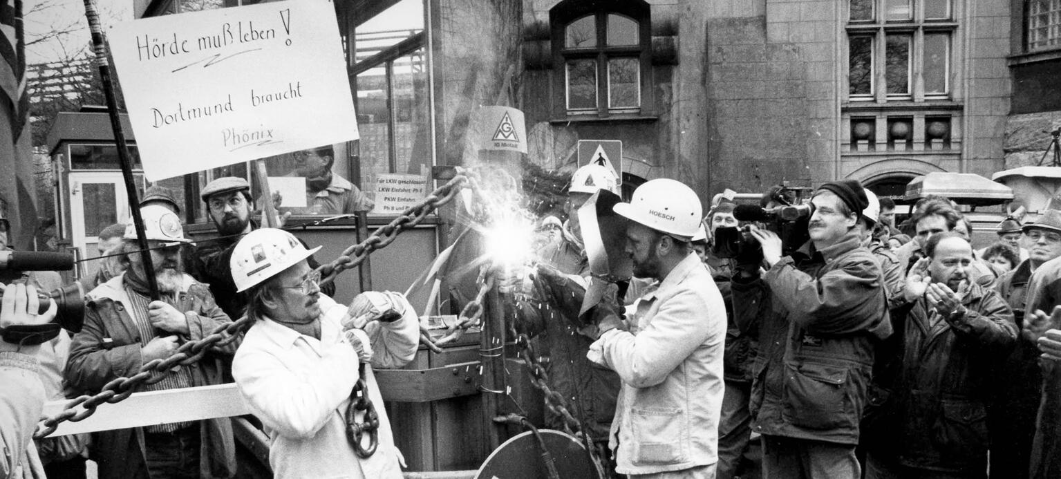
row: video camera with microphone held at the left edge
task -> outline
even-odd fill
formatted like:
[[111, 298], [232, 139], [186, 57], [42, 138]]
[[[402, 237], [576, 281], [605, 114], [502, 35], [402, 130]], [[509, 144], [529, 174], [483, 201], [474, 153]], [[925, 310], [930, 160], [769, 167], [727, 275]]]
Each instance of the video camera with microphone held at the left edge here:
[[[0, 283], [22, 278], [25, 271], [69, 271], [73, 269], [72, 254], [0, 251]], [[85, 291], [80, 283], [64, 286], [48, 294], [40, 295], [40, 313], [50, 306], [47, 300], [54, 300], [58, 310], [55, 319], [44, 325], [14, 325], [0, 331], [3, 341], [13, 344], [40, 344], [54, 338], [60, 329], [81, 331], [85, 323]]]

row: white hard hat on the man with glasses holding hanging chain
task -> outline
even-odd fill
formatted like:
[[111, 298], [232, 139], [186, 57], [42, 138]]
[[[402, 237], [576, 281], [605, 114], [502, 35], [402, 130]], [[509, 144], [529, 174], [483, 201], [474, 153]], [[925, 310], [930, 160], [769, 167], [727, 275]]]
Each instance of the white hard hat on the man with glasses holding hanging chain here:
[[246, 291], [309, 258], [318, 250], [320, 246], [307, 250], [295, 235], [283, 229], [255, 229], [236, 243], [232, 258], [228, 262], [236, 291]]

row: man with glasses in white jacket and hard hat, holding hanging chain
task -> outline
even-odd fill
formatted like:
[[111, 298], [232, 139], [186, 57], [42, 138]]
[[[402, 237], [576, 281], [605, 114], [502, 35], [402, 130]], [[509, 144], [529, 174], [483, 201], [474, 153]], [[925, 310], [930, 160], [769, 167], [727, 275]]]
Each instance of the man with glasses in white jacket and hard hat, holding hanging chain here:
[[[275, 477], [401, 478], [403, 459], [371, 366], [400, 367], [413, 359], [416, 313], [397, 293], [365, 292], [349, 311], [337, 305], [320, 293], [319, 274], [307, 264], [317, 250], [273, 228], [256, 229], [236, 245], [232, 280], [247, 292], [246, 314], [256, 321], [236, 354], [232, 376], [269, 434]], [[368, 363], [362, 369], [367, 398], [379, 414], [371, 455], [359, 455], [347, 439], [346, 414], [362, 362]], [[364, 421], [358, 412], [356, 422]], [[363, 450], [371, 448], [368, 437], [363, 434]]]

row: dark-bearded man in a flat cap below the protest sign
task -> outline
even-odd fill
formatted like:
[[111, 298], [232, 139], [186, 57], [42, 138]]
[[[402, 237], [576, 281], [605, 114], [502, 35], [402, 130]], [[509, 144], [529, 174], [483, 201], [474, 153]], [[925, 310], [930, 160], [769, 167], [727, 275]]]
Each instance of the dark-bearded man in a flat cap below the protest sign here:
[[[224, 176], [203, 187], [199, 196], [206, 203], [219, 238], [199, 242], [191, 258], [191, 273], [196, 279], [210, 285], [218, 305], [229, 318], [238, 319], [243, 315], [246, 298], [237, 293], [228, 262], [240, 238], [258, 228], [251, 219], [254, 201], [250, 184], [240, 177]], [[312, 257], [309, 261], [312, 268], [318, 267]], [[326, 294], [334, 291], [333, 285], [325, 288]]]

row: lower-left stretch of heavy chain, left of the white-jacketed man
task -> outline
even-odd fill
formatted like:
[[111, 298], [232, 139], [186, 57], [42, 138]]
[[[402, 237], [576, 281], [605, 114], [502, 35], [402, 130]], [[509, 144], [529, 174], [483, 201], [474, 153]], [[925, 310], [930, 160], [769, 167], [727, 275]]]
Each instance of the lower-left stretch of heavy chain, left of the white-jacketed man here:
[[[37, 424], [34, 439], [41, 439], [52, 432], [64, 421], [79, 422], [95, 412], [95, 408], [104, 403], [119, 403], [131, 396], [140, 384], [153, 384], [162, 380], [177, 366], [193, 364], [206, 354], [210, 347], [226, 346], [234, 341], [241, 332], [246, 331], [253, 320], [242, 318], [228, 324], [218, 326], [209, 336], [181, 344], [177, 352], [166, 359], [153, 359], [140, 366], [140, 371], [132, 377], [120, 377], [103, 386], [94, 395], [82, 395], [63, 406], [63, 411], [42, 417]], [[82, 409], [79, 409], [81, 407]]]

